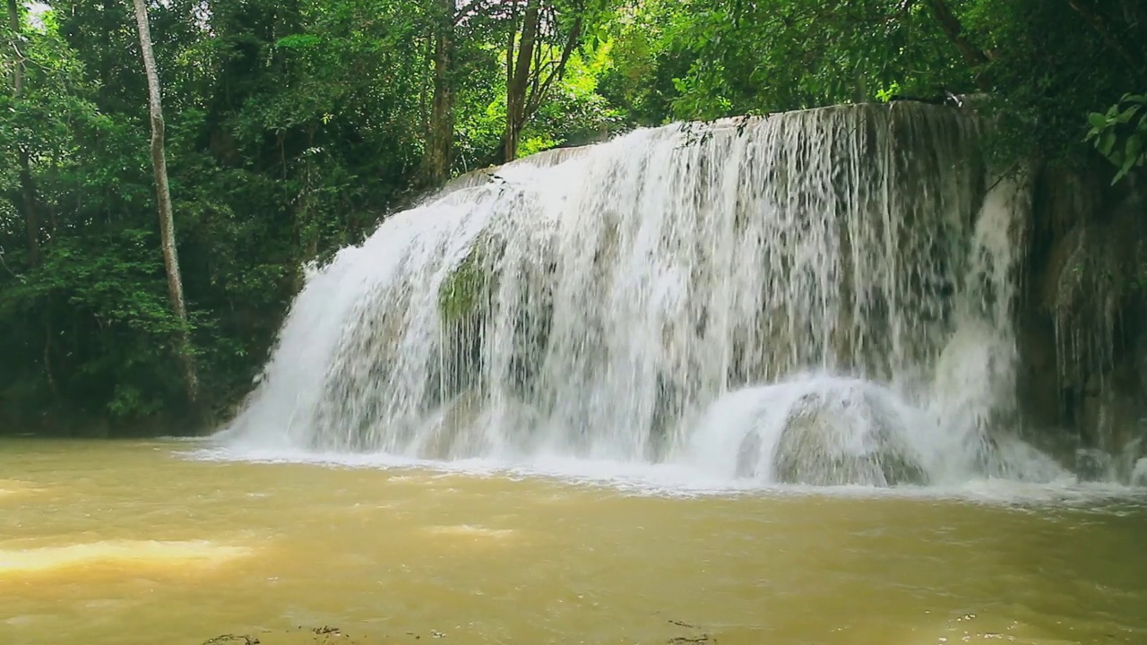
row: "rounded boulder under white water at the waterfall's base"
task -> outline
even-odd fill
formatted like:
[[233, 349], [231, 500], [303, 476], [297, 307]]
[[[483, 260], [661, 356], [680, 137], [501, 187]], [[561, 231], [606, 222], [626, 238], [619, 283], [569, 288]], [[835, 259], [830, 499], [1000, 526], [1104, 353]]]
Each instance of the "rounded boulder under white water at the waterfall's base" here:
[[777, 444], [773, 474], [778, 482], [806, 485], [928, 483], [900, 421], [865, 394], [798, 401]]

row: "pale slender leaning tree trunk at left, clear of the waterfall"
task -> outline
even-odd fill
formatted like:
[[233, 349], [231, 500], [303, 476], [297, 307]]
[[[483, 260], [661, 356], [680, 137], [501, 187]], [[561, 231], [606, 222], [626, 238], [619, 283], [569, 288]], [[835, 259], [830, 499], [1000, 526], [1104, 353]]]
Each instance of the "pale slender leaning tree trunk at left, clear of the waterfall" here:
[[147, 6], [145, 0], [134, 0], [134, 5], [151, 110], [151, 166], [155, 170], [155, 193], [159, 207], [159, 236], [163, 247], [163, 264], [167, 272], [167, 296], [171, 300], [171, 309], [181, 325], [175, 337], [177, 350], [184, 367], [187, 399], [194, 404], [198, 398], [198, 378], [195, 374], [195, 359], [192, 356], [192, 343], [187, 334], [187, 305], [184, 303], [184, 282], [179, 275], [179, 256], [175, 252], [175, 223], [171, 213], [167, 160], [163, 150], [164, 125], [163, 104], [159, 101], [159, 75], [156, 72], [155, 54], [151, 52], [151, 30], [147, 20]]

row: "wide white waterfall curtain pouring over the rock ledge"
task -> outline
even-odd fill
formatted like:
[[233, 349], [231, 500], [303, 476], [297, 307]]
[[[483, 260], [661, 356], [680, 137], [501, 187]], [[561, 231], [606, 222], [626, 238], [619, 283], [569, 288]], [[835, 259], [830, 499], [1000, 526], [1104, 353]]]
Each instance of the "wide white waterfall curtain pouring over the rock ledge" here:
[[1014, 427], [1027, 187], [914, 103], [502, 166], [313, 271], [229, 441], [713, 477], [1060, 471]]

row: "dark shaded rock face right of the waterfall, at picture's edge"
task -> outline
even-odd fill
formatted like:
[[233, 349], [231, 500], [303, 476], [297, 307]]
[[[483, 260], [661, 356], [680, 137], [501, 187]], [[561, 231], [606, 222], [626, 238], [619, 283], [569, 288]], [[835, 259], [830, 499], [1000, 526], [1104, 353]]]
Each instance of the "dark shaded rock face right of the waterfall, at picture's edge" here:
[[1147, 191], [1044, 169], [1027, 230], [1019, 401], [1080, 479], [1130, 482], [1147, 430]]

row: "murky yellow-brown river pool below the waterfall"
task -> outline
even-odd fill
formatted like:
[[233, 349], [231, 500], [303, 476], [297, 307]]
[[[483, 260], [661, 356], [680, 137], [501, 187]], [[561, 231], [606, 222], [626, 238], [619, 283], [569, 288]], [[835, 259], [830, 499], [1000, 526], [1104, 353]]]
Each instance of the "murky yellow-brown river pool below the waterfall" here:
[[469, 469], [5, 441], [0, 643], [1147, 642], [1147, 498], [1118, 489]]

